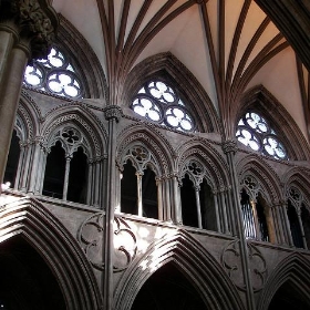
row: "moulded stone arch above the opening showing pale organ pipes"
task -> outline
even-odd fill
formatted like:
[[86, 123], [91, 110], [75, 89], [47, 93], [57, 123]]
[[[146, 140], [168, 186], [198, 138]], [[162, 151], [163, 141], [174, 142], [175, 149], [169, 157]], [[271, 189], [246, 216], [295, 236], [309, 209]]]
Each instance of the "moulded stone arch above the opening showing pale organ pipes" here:
[[237, 174], [240, 184], [247, 175], [255, 177], [259, 183], [257, 194], [260, 193], [270, 206], [282, 199], [280, 178], [268, 163], [262, 162], [256, 155], [248, 155], [239, 161]]

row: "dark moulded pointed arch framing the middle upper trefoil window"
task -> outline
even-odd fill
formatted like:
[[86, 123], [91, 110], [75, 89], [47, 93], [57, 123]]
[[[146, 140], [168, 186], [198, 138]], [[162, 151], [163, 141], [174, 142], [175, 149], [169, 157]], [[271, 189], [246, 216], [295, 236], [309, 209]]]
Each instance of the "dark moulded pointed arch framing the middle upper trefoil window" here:
[[[180, 97], [189, 104], [197, 131], [219, 132], [220, 125], [215, 106], [193, 73], [172, 53], [161, 53], [138, 63], [126, 76], [121, 102], [130, 105], [141, 85], [152, 79], [161, 79], [175, 86]], [[204, 117], [200, 117], [204, 115]]]

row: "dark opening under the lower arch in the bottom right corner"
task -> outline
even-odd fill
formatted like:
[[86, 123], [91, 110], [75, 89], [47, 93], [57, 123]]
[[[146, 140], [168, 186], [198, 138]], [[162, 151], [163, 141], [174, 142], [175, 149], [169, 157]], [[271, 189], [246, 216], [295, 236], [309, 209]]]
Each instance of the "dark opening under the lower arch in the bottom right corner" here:
[[307, 299], [291, 282], [286, 282], [273, 296], [268, 310], [277, 309], [298, 309], [307, 310], [310, 307], [310, 300]]

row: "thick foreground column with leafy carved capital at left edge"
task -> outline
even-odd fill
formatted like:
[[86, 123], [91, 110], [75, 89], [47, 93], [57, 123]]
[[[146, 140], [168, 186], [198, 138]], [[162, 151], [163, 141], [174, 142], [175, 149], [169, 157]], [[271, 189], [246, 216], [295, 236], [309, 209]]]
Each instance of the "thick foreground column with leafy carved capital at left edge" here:
[[54, 39], [59, 21], [49, 2], [0, 2], [0, 184], [3, 182], [25, 65], [30, 59], [45, 56]]

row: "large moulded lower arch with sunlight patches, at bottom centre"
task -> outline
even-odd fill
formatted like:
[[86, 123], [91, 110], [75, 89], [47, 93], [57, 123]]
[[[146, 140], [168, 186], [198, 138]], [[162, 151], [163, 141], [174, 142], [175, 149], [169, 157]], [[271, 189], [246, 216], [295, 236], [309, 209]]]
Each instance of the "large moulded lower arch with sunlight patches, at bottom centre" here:
[[115, 289], [114, 309], [131, 309], [145, 281], [168, 262], [192, 280], [208, 309], [244, 309], [235, 286], [219, 264], [184, 230], [155, 241], [124, 272]]

